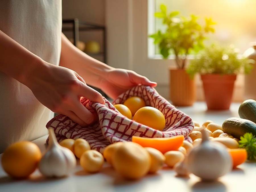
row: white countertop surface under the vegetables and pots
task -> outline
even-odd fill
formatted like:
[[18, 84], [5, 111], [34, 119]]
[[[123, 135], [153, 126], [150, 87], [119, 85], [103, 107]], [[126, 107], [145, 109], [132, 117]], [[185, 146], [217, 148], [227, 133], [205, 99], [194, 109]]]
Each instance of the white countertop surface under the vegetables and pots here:
[[[200, 124], [205, 120], [212, 120], [216, 123], [222, 122], [229, 117], [238, 117], [239, 104], [232, 104], [230, 111], [206, 111], [204, 103], [197, 102], [193, 107], [179, 108]], [[45, 140], [47, 136], [33, 141], [42, 151], [45, 150]], [[1, 155], [0, 155], [1, 156]], [[1, 158], [1, 157], [0, 157]], [[255, 191], [256, 163], [244, 163], [236, 170], [221, 177], [219, 181], [213, 183], [203, 183], [193, 174], [190, 178], [176, 177], [173, 170], [164, 168], [156, 175], [147, 175], [138, 181], [126, 181], [122, 179], [108, 164], [100, 173], [87, 174], [77, 165], [74, 174], [62, 179], [45, 179], [38, 170], [29, 179], [13, 180], [3, 172], [0, 167], [0, 191], [218, 191], [218, 192], [246, 192]]]

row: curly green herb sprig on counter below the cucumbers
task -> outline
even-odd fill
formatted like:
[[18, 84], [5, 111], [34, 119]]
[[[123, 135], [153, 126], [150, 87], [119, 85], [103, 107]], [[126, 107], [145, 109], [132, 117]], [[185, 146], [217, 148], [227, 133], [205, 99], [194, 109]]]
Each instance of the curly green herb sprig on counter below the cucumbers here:
[[247, 159], [256, 160], [256, 137], [251, 133], [245, 133], [240, 137], [239, 147], [247, 151]]

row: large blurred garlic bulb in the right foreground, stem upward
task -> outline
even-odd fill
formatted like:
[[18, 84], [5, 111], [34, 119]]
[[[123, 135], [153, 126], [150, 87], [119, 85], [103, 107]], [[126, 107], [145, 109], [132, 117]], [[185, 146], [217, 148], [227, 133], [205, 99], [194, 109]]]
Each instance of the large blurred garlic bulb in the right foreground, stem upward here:
[[232, 158], [224, 145], [208, 139], [205, 129], [202, 142], [188, 155], [189, 172], [201, 177], [203, 181], [214, 181], [232, 169]]

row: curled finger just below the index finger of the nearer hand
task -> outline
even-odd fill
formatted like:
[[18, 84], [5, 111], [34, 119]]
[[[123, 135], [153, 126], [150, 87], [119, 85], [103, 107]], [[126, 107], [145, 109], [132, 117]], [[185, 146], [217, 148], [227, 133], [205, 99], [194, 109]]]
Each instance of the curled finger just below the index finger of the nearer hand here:
[[72, 111], [86, 124], [91, 124], [96, 120], [95, 114], [91, 113], [86, 107], [84, 107], [79, 100], [74, 101]]

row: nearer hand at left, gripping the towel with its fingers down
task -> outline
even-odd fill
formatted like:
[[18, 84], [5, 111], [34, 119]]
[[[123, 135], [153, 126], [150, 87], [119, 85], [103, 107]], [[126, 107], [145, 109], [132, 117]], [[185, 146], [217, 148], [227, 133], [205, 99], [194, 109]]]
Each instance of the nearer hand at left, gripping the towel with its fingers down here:
[[81, 96], [105, 104], [103, 96], [87, 86], [75, 71], [46, 62], [33, 70], [25, 84], [44, 106], [55, 113], [67, 115], [81, 126], [96, 120], [96, 115], [80, 102]]

